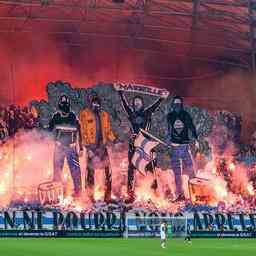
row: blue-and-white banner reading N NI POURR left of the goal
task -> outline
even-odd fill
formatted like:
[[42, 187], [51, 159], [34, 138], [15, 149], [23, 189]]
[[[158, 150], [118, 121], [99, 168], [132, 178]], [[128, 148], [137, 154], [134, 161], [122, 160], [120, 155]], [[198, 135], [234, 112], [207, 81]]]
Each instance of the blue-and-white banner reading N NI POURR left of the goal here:
[[0, 230], [120, 232], [123, 219], [119, 212], [5, 211], [0, 213]]

